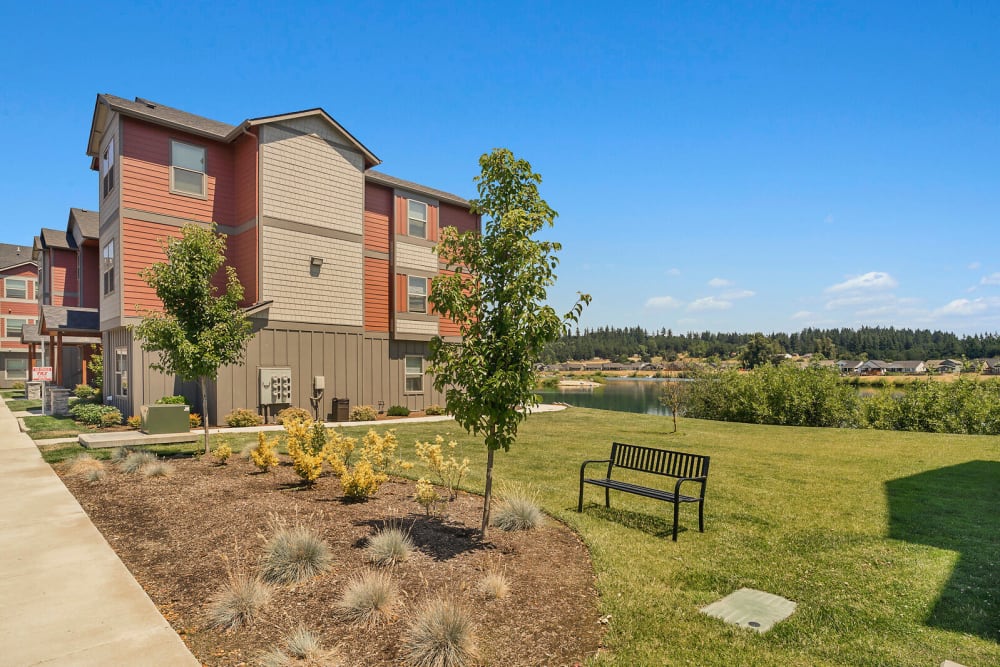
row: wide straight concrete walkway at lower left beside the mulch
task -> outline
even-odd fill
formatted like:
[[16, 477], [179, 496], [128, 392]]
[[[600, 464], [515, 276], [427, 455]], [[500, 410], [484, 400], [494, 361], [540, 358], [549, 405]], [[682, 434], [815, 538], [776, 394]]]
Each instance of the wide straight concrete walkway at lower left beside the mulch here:
[[0, 665], [200, 663], [0, 401]]

